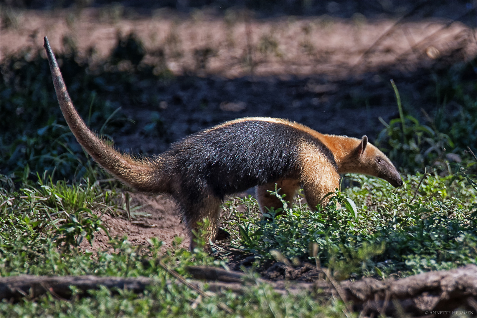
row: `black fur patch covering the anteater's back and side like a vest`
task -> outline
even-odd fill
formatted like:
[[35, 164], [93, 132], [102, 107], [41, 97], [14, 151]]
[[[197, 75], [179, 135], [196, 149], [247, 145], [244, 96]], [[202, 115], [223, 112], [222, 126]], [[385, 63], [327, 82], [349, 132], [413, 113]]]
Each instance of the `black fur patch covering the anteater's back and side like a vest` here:
[[[283, 123], [247, 120], [187, 136], [161, 154], [170, 175], [181, 175], [182, 195], [190, 202], [204, 195], [225, 195], [283, 177], [299, 177], [300, 149], [305, 141], [328, 158], [332, 152], [318, 139]], [[167, 173], [167, 172], [166, 172]], [[182, 196], [184, 197], [184, 196]]]

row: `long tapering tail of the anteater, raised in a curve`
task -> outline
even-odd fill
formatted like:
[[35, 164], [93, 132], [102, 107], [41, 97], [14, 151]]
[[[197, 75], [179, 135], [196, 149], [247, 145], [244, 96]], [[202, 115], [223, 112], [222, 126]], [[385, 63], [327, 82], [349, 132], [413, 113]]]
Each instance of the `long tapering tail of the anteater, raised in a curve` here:
[[127, 185], [141, 191], [167, 192], [166, 185], [163, 182], [164, 177], [161, 174], [162, 164], [160, 162], [138, 161], [128, 155], [121, 154], [113, 147], [105, 144], [86, 126], [74, 108], [46, 36], [43, 47], [46, 49], [46, 55], [48, 56], [58, 103], [66, 123], [68, 123], [78, 143], [93, 157], [94, 161]]

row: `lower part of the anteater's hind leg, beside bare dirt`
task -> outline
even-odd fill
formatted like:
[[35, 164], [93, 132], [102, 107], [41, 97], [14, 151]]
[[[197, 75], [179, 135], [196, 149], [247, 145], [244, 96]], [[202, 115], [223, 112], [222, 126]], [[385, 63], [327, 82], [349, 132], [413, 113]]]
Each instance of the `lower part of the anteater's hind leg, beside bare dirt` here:
[[210, 241], [215, 242], [215, 238], [218, 233], [218, 217], [220, 215], [220, 205], [222, 204], [222, 199], [216, 195], [209, 194], [203, 196], [197, 201], [182, 202], [181, 205], [184, 210], [184, 217], [186, 219], [187, 227], [189, 228], [189, 237], [190, 237], [190, 250], [194, 250], [194, 247], [197, 246], [197, 242], [194, 240], [197, 237], [194, 235], [198, 233], [200, 226], [197, 222], [204, 222], [204, 219], [207, 218], [209, 221], [209, 226], [204, 229], [206, 233], [202, 236], [206, 243]]

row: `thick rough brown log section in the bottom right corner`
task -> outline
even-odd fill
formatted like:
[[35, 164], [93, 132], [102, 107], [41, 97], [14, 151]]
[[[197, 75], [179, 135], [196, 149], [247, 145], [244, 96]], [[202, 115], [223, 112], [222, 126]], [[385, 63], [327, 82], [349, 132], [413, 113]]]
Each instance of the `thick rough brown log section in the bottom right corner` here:
[[477, 310], [477, 267], [473, 264], [398, 280], [345, 281], [340, 287], [346, 298], [343, 300], [382, 315], [395, 315], [399, 311], [414, 316], [441, 312], [438, 316], [448, 317], [453, 310], [462, 308], [475, 316]]

